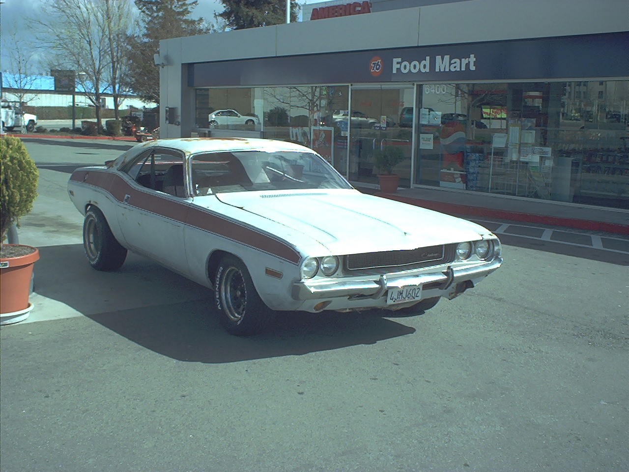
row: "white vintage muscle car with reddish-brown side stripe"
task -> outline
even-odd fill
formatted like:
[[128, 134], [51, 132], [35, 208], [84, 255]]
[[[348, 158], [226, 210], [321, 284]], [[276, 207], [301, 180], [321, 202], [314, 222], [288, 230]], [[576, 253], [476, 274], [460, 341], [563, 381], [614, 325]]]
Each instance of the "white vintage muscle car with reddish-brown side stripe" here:
[[301, 145], [245, 138], [138, 144], [68, 184], [87, 259], [127, 250], [214, 290], [221, 322], [254, 334], [275, 310], [406, 310], [452, 299], [501, 265], [489, 230], [362, 194]]

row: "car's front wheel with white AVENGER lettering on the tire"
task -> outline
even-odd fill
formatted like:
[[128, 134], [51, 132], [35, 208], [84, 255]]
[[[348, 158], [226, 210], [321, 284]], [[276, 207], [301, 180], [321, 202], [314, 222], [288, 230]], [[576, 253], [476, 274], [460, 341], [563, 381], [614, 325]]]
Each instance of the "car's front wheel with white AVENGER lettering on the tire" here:
[[214, 278], [214, 306], [230, 334], [259, 334], [274, 319], [274, 312], [258, 295], [249, 271], [240, 259], [224, 256]]

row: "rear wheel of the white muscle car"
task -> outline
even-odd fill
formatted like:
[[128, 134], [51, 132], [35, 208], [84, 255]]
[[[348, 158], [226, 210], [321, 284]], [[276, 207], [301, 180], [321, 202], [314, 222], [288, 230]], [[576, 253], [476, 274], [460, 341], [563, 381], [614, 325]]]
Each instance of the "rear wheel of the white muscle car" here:
[[125, 263], [126, 249], [116, 240], [101, 210], [90, 206], [83, 222], [83, 248], [97, 271], [115, 271]]

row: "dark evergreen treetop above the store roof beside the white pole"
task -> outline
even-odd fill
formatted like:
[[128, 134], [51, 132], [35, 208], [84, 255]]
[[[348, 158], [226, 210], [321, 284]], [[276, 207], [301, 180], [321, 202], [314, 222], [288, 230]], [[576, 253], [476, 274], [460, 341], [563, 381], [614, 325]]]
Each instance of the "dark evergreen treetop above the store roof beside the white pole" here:
[[[217, 20], [225, 22], [227, 29], [245, 30], [258, 26], [286, 23], [286, 0], [221, 0], [225, 5]], [[291, 0], [291, 22], [297, 21], [299, 5]]]

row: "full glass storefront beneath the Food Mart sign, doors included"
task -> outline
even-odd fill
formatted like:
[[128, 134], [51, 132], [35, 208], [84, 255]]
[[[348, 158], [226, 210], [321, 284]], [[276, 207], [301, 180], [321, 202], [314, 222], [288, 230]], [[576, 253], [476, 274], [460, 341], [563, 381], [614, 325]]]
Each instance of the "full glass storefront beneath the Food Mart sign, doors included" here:
[[401, 186], [629, 208], [629, 81], [414, 87], [353, 86], [351, 103], [349, 86], [198, 89], [196, 125], [301, 143], [359, 183], [396, 146]]

